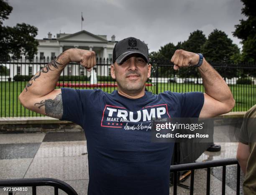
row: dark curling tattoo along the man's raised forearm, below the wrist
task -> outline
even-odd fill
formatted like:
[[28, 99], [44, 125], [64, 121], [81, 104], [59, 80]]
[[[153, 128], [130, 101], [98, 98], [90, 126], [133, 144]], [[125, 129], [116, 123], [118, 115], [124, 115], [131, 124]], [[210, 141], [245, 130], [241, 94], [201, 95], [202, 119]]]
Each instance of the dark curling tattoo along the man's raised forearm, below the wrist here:
[[47, 73], [47, 72], [49, 72], [49, 70], [54, 71], [53, 67], [55, 67], [56, 69], [58, 69], [59, 66], [64, 65], [64, 62], [63, 62], [64, 60], [60, 60], [60, 62], [57, 62], [57, 61], [59, 61], [59, 58], [60, 58], [61, 56], [63, 56], [63, 54], [64, 54], [64, 53], [61, 53], [58, 57], [56, 57], [54, 60], [52, 60], [49, 64], [47, 64], [45, 67], [43, 67], [41, 70], [39, 70], [38, 75], [34, 75], [34, 76], [28, 81], [28, 84], [27, 84], [26, 87], [25, 87], [25, 89], [26, 89], [25, 92], [28, 91], [28, 87], [30, 87], [30, 86], [32, 85], [33, 81], [36, 81], [36, 79], [41, 76], [41, 72]]

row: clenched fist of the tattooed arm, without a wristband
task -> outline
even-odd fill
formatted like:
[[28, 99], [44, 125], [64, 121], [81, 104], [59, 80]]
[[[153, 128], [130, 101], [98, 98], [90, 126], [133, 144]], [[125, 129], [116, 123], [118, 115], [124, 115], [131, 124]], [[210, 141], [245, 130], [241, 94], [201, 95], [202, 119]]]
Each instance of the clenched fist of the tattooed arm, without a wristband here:
[[91, 71], [92, 67], [96, 65], [96, 54], [94, 51], [69, 49], [67, 50], [71, 62], [80, 63], [87, 71]]

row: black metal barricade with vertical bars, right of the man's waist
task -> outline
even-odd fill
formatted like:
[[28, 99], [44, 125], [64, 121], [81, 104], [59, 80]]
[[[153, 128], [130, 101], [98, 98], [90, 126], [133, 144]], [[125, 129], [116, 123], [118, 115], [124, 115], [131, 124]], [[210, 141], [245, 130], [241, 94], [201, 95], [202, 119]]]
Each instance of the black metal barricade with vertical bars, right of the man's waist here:
[[170, 168], [170, 173], [174, 174], [174, 182], [173, 182], [173, 194], [177, 195], [177, 173], [182, 171], [191, 171], [190, 176], [190, 191], [189, 194], [194, 194], [194, 175], [195, 170], [197, 169], [207, 169], [207, 180], [206, 180], [206, 195], [210, 195], [210, 172], [213, 167], [222, 167], [222, 195], [225, 195], [225, 186], [226, 186], [226, 166], [227, 165], [237, 165], [236, 169], [236, 194], [240, 194], [240, 166], [236, 158], [228, 158], [228, 159], [220, 159], [220, 160], [212, 160], [202, 163], [189, 163], [182, 165], [172, 165]]

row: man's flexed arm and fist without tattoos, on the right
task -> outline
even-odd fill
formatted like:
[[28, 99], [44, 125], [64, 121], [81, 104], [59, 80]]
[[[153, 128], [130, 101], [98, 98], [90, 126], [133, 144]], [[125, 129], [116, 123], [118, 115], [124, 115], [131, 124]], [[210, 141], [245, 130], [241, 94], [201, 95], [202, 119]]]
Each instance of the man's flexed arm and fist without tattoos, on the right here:
[[[178, 70], [179, 67], [197, 65], [199, 59], [196, 53], [176, 50], [171, 62], [174, 63], [174, 70]], [[235, 105], [235, 100], [225, 80], [205, 58], [198, 70], [205, 87], [205, 101], [199, 117], [215, 117], [230, 112]]]

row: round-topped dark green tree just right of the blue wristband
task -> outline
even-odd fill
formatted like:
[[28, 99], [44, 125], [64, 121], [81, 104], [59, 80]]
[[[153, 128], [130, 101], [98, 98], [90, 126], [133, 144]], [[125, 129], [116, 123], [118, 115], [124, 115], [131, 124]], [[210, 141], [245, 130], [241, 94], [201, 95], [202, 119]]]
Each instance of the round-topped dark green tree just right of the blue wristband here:
[[[239, 56], [240, 51], [236, 44], [228, 38], [228, 35], [221, 30], [213, 30], [208, 36], [207, 41], [202, 47], [202, 52], [207, 61], [212, 62], [212, 65], [231, 65], [235, 64], [236, 56]], [[223, 77], [232, 78], [237, 75], [235, 68], [218, 69], [218, 72]]]

